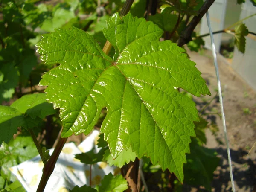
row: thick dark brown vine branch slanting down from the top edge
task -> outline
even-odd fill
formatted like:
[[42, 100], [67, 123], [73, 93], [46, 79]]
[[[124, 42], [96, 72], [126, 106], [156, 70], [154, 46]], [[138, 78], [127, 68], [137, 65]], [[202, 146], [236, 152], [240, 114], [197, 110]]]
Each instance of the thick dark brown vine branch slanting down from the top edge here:
[[195, 27], [198, 25], [201, 18], [207, 12], [207, 10], [212, 6], [215, 0], [206, 0], [203, 6], [199, 9], [198, 15], [194, 16], [193, 19], [190, 21], [188, 26], [183, 30], [178, 39], [178, 46], [182, 47], [183, 45], [187, 44], [189, 41], [192, 41], [192, 32], [194, 31]]

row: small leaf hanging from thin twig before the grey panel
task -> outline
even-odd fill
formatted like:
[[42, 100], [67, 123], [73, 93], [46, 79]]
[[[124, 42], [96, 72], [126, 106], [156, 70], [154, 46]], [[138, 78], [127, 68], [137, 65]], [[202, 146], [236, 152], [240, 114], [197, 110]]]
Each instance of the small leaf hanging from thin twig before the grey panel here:
[[248, 35], [248, 32], [249, 31], [244, 23], [240, 23], [239, 25], [235, 26], [235, 45], [242, 53], [245, 52], [245, 36]]

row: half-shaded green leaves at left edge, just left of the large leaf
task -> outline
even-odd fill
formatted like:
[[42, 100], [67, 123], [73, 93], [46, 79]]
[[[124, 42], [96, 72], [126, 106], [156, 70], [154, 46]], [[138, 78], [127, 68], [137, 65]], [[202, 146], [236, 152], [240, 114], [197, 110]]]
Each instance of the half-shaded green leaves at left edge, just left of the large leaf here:
[[0, 105], [0, 145], [3, 141], [8, 143], [13, 134], [17, 134], [17, 127], [37, 127], [41, 119], [54, 113], [44, 93], [25, 95], [10, 107]]

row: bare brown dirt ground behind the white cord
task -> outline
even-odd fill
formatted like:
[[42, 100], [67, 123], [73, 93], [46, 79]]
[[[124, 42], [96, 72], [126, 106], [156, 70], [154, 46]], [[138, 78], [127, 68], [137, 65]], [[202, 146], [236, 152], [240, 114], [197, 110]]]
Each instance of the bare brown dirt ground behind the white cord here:
[[[212, 53], [204, 50], [201, 54], [188, 52], [196, 67], [202, 72], [212, 96], [202, 96], [196, 99], [198, 109], [216, 94], [217, 80], [212, 59]], [[224, 112], [226, 117], [227, 134], [230, 143], [232, 169], [236, 191], [256, 191], [256, 92], [235, 72], [231, 64], [221, 55], [218, 55], [221, 89], [223, 93]], [[221, 158], [220, 164], [214, 172], [212, 192], [232, 191], [229, 166], [227, 162], [227, 148], [220, 116], [218, 96], [207, 107], [208, 119], [217, 123], [219, 131], [212, 135], [209, 129], [207, 134], [207, 147], [213, 148]], [[254, 188], [254, 189], [253, 189]], [[191, 191], [191, 189], [188, 189]], [[202, 191], [194, 189], [192, 191]]]

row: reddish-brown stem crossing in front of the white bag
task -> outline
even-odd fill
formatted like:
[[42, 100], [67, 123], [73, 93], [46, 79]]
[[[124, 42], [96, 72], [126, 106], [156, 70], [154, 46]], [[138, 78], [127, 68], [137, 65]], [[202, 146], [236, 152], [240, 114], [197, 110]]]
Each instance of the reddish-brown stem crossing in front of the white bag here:
[[50, 159], [47, 161], [46, 165], [44, 166], [43, 169], [43, 175], [41, 177], [40, 183], [38, 185], [38, 189], [36, 192], [44, 192], [44, 188], [47, 184], [47, 181], [49, 180], [49, 177], [51, 176], [54, 168], [55, 168], [55, 164], [58, 160], [58, 156], [61, 153], [61, 150], [64, 146], [64, 144], [66, 143], [67, 138], [60, 138], [60, 140], [58, 140], [58, 143], [50, 157]]

